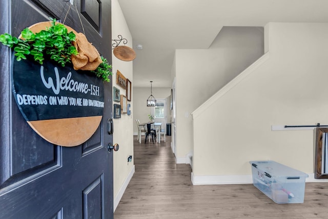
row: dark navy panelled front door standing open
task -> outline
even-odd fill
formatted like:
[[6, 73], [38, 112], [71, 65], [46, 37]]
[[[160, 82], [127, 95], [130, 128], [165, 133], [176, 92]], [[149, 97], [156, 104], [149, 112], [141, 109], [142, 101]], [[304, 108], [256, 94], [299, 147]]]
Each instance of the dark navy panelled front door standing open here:
[[[112, 60], [110, 0], [2, 0], [0, 17], [0, 33], [14, 36], [49, 17], [66, 17], [65, 25], [85, 32]], [[103, 119], [94, 135], [75, 147], [53, 145], [19, 112], [11, 89], [12, 53], [2, 45], [0, 52], [0, 218], [113, 218], [113, 152], [107, 150], [112, 83], [104, 83]]]

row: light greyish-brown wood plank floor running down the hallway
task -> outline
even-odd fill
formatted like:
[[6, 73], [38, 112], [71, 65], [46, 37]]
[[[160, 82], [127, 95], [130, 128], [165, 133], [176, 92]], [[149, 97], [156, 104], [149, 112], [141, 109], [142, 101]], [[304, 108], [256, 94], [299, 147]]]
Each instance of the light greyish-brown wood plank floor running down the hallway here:
[[170, 142], [135, 138], [135, 173], [115, 219], [328, 218], [328, 183], [306, 183], [303, 204], [276, 204], [253, 184], [194, 186], [190, 165], [175, 164]]

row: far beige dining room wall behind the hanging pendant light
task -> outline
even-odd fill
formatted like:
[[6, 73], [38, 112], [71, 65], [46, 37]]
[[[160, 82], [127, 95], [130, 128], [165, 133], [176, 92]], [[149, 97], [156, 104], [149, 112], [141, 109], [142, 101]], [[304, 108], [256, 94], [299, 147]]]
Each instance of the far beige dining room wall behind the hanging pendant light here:
[[[133, 86], [133, 84], [132, 84]], [[171, 95], [171, 88], [152, 88], [152, 94], [156, 99], [166, 99]], [[132, 111], [134, 120], [139, 119], [141, 123], [148, 122], [148, 114], [150, 114], [151, 107], [147, 106], [147, 99], [150, 95], [150, 82], [149, 87], [133, 87], [133, 106]], [[169, 102], [168, 102], [169, 104]], [[171, 111], [168, 111], [168, 121], [171, 122]], [[165, 124], [163, 124], [162, 128]], [[133, 123], [133, 133], [137, 135], [138, 129], [136, 122]]]

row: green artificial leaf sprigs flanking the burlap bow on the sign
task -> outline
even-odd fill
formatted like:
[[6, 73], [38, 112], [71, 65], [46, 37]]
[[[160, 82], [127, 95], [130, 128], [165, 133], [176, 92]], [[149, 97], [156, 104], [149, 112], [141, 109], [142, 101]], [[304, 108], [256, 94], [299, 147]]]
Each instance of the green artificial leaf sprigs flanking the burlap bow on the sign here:
[[[72, 44], [72, 41], [76, 39], [75, 34], [68, 32], [65, 25], [56, 24], [56, 19], [52, 19], [52, 26], [46, 30], [34, 34], [29, 28], [25, 28], [21, 34], [22, 39], [8, 33], [0, 35], [0, 42], [14, 49], [17, 61], [26, 59], [27, 55], [32, 55], [35, 61], [43, 64], [44, 55], [47, 54], [50, 59], [64, 67], [67, 63], [71, 63], [71, 55], [78, 54]], [[104, 81], [110, 81], [108, 76], [112, 75], [110, 71], [112, 65], [102, 56], [101, 60], [103, 63], [92, 72]]]

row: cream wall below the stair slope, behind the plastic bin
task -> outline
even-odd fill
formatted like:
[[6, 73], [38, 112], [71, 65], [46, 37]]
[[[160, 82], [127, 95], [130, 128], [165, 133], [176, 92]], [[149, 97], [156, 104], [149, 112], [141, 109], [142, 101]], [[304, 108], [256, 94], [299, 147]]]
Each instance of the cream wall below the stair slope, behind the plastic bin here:
[[314, 172], [314, 131], [271, 125], [328, 123], [328, 24], [270, 23], [265, 31], [270, 58], [193, 113], [195, 178], [231, 182], [250, 175], [254, 160]]

